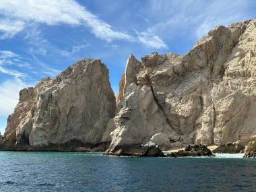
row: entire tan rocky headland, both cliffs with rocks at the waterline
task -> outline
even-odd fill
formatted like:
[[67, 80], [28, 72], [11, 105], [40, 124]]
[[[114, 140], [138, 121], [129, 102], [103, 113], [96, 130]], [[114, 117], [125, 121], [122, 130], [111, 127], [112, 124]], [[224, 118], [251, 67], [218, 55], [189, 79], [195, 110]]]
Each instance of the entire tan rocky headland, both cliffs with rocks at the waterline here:
[[[256, 20], [217, 26], [184, 55], [127, 59], [115, 96], [108, 69], [82, 59], [20, 91], [0, 150], [117, 156], [256, 156]], [[245, 146], [247, 146], [245, 148]]]

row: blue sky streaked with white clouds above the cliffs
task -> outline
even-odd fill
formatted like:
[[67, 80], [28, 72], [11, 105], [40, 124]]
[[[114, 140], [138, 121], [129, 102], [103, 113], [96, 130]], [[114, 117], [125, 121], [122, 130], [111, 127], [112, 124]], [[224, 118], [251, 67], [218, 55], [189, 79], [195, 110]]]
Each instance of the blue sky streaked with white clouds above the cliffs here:
[[118, 91], [125, 62], [187, 53], [217, 25], [256, 17], [256, 1], [0, 1], [0, 131], [18, 92], [78, 59], [98, 58]]

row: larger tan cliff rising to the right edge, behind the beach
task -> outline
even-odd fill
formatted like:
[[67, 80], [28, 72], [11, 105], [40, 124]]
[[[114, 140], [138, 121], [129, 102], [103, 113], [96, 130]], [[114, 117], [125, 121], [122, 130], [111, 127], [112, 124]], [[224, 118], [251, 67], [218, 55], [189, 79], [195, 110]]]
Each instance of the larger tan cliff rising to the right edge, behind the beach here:
[[246, 20], [217, 26], [186, 55], [131, 55], [106, 154], [150, 139], [162, 149], [247, 145], [256, 134], [255, 40], [256, 20]]

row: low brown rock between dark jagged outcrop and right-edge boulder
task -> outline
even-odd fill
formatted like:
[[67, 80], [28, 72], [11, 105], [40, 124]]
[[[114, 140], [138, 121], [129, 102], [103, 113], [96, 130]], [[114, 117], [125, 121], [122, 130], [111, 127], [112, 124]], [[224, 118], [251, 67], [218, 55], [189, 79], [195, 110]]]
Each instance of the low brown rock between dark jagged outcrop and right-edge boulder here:
[[218, 146], [218, 148], [216, 148], [212, 152], [214, 154], [217, 154], [217, 153], [218, 154], [238, 154], [244, 149], [245, 149], [245, 146], [240, 142], [236, 141], [233, 143], [229, 142], [229, 143], [221, 144], [220, 146]]

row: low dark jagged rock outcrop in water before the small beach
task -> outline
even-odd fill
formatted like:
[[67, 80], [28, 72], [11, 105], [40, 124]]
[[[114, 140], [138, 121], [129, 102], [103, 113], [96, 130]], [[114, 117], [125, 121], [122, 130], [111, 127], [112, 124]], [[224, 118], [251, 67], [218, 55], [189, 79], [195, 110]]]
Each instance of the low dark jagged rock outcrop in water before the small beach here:
[[172, 152], [167, 154], [168, 157], [178, 158], [178, 157], [196, 157], [196, 156], [213, 156], [211, 150], [204, 145], [189, 145], [185, 150], [179, 150], [178, 152]]

